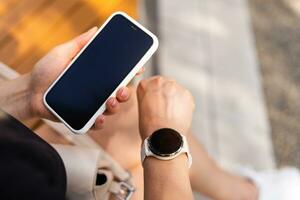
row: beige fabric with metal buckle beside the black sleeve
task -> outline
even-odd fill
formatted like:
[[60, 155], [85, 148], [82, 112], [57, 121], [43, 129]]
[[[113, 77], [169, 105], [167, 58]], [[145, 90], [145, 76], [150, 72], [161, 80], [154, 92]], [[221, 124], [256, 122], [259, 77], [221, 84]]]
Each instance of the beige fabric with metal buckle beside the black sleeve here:
[[[108, 200], [111, 194], [130, 199], [134, 187], [130, 174], [100, 148], [53, 145], [61, 156], [67, 173], [67, 198], [70, 200]], [[97, 174], [107, 178], [96, 185]]]

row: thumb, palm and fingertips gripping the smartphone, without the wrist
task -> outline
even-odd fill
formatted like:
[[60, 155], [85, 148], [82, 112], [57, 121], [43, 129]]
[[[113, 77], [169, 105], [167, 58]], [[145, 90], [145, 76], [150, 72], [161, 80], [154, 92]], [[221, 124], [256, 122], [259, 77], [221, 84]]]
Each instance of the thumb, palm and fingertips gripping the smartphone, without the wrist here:
[[[30, 76], [30, 109], [32, 116], [57, 121], [58, 119], [46, 108], [43, 103], [43, 94], [49, 88], [51, 83], [59, 76], [59, 74], [67, 67], [74, 56], [89, 42], [89, 40], [97, 32], [98, 28], [94, 27], [89, 31], [79, 35], [71, 41], [63, 43], [47, 55], [45, 55], [34, 67]], [[143, 73], [142, 68], [137, 75]], [[122, 87], [116, 94], [111, 97], [106, 104], [105, 115], [111, 115], [118, 112], [120, 103], [127, 102], [130, 97], [130, 90]], [[114, 103], [113, 103], [114, 102]], [[93, 126], [94, 129], [101, 129], [104, 125], [105, 115], [99, 116]]]

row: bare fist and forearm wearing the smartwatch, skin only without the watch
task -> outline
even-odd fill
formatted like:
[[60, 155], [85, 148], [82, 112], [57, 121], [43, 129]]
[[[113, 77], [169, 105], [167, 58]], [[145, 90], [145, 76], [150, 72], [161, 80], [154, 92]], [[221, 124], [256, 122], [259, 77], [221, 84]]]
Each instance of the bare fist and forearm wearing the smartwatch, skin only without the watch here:
[[[174, 80], [153, 77], [139, 84], [137, 97], [142, 140], [159, 128], [187, 135], [195, 107], [189, 91]], [[186, 155], [168, 161], [150, 156], [144, 160], [143, 169], [145, 200], [193, 199]]]

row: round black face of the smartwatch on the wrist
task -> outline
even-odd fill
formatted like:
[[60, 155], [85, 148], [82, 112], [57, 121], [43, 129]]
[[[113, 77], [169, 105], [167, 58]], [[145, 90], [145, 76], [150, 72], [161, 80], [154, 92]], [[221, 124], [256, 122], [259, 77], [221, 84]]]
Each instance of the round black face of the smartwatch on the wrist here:
[[180, 151], [183, 145], [181, 135], [168, 128], [155, 131], [148, 140], [149, 149], [158, 156], [170, 156]]

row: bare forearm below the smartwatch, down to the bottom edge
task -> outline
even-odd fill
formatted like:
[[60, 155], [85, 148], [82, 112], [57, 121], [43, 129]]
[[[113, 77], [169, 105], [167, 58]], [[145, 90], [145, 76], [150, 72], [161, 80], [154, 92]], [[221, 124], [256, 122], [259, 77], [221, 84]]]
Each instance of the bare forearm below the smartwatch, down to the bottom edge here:
[[145, 199], [193, 199], [186, 156], [169, 161], [149, 157], [143, 169]]

